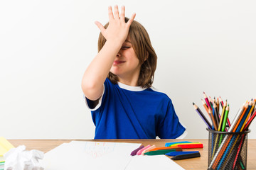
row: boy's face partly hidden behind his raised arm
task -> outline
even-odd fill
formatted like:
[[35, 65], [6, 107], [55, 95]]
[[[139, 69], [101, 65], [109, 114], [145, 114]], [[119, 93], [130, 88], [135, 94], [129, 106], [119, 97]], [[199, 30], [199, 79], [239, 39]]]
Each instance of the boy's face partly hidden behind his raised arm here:
[[140, 68], [139, 59], [128, 36], [117, 53], [110, 72], [116, 74], [120, 80], [134, 81], [139, 78]]

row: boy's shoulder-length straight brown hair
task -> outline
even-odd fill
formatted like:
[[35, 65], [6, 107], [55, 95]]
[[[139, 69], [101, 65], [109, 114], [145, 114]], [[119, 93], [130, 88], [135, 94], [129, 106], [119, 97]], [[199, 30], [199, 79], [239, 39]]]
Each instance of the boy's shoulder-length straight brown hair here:
[[[129, 18], [125, 17], [125, 22]], [[107, 28], [109, 23], [107, 23], [104, 27]], [[157, 56], [154, 48], [151, 45], [151, 41], [149, 39], [149, 34], [146, 32], [146, 29], [137, 21], [132, 21], [132, 24], [129, 28], [129, 38], [132, 42], [132, 47], [134, 48], [134, 52], [139, 59], [139, 64], [141, 64], [141, 70], [139, 73], [139, 79], [137, 86], [142, 86], [146, 88], [150, 88], [154, 81], [154, 72], [156, 70], [156, 61]], [[106, 39], [100, 33], [98, 40], [98, 51], [102, 49], [103, 45], [105, 45]], [[117, 84], [118, 77], [112, 72], [109, 72], [108, 79], [112, 81], [113, 84]]]

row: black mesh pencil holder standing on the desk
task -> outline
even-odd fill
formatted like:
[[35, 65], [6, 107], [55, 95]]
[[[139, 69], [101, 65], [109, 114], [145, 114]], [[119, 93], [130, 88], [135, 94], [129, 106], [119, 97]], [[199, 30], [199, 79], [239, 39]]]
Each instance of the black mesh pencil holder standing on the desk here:
[[246, 169], [247, 134], [244, 132], [219, 132], [209, 130], [208, 170]]

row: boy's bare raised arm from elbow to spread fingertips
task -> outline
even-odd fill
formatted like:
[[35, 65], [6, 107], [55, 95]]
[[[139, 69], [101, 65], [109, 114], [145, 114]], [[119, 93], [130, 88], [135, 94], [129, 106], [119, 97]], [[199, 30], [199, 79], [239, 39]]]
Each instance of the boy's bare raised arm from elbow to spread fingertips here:
[[[115, 17], [114, 17], [115, 16]], [[118, 7], [114, 6], [114, 15], [111, 6], [109, 7], [109, 26], [107, 29], [101, 23], [95, 22], [100, 28], [102, 35], [106, 38], [105, 45], [100, 52], [89, 64], [82, 77], [82, 91], [85, 96], [96, 101], [103, 92], [103, 84], [110, 72], [117, 53], [122, 47], [124, 40], [126, 40], [129, 26], [134, 20], [135, 14], [129, 19], [127, 23], [124, 21], [124, 6], [122, 6], [121, 15], [119, 16]]]

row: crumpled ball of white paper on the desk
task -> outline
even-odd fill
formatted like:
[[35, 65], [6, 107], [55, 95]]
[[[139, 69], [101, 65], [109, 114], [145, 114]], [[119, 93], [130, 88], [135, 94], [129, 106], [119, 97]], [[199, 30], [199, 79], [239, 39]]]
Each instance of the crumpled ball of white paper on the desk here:
[[39, 159], [43, 159], [43, 152], [25, 149], [26, 147], [21, 145], [6, 152], [4, 170], [43, 170], [39, 165]]

